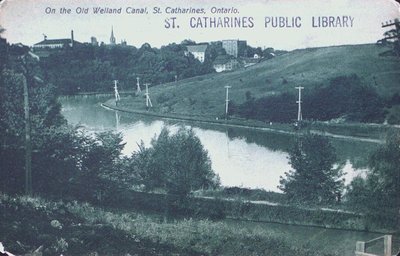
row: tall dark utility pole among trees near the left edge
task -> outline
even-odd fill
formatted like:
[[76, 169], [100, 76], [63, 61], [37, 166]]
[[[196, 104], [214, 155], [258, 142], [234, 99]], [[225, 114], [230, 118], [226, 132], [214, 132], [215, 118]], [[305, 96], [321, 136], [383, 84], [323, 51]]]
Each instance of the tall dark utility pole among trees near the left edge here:
[[25, 67], [25, 56], [21, 58], [22, 64], [22, 85], [24, 90], [24, 118], [25, 118], [25, 194], [32, 195], [32, 141], [31, 141], [31, 120], [29, 108], [29, 91], [26, 76], [28, 71]]

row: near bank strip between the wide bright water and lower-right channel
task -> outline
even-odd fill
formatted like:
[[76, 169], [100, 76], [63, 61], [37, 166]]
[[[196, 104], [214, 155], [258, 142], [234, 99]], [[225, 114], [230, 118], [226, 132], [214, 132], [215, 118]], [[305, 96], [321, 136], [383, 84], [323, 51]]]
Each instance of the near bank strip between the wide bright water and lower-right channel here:
[[[266, 192], [269, 193], [269, 192]], [[207, 194], [207, 193], [206, 193]], [[276, 197], [276, 196], [273, 196]], [[133, 211], [162, 213], [173, 206], [175, 214], [182, 217], [215, 220], [279, 223], [326, 229], [363, 231], [377, 233], [397, 232], [396, 218], [370, 213], [358, 213], [336, 208], [300, 206], [277, 201], [232, 199], [204, 196], [202, 193], [177, 204], [176, 199], [160, 193], [140, 191], [114, 191], [112, 197], [103, 198], [102, 205]]]

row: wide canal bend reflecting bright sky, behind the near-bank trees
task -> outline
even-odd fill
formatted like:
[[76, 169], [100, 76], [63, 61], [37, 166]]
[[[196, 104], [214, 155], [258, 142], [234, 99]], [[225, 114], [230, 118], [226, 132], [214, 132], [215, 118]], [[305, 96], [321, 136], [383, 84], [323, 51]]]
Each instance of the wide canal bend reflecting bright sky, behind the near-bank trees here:
[[[170, 121], [107, 110], [100, 102], [108, 98], [68, 97], [61, 99], [62, 113], [71, 124], [80, 124], [91, 131], [121, 132], [126, 146], [124, 154], [138, 149], [143, 141], [150, 145], [166, 126], [172, 132], [180, 126], [191, 127], [207, 149], [213, 170], [223, 186], [261, 188], [279, 192], [280, 176], [291, 169], [288, 150], [294, 136], [245, 128], [226, 128], [211, 124]], [[355, 176], [363, 175], [369, 154], [377, 148], [370, 142], [332, 139], [337, 149], [338, 163], [343, 165], [348, 184]]]

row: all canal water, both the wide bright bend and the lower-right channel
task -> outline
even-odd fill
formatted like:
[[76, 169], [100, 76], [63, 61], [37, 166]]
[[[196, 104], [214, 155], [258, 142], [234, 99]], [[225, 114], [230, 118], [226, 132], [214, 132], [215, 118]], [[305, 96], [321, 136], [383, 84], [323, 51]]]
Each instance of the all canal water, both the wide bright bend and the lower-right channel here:
[[[256, 131], [244, 128], [225, 128], [180, 121], [166, 121], [142, 115], [121, 113], [104, 109], [101, 102], [108, 98], [68, 97], [61, 99], [62, 113], [71, 124], [80, 124], [89, 131], [113, 130], [121, 132], [126, 142], [124, 154], [132, 154], [143, 141], [150, 144], [163, 126], [176, 131], [181, 125], [191, 127], [208, 150], [212, 167], [221, 178], [224, 186], [242, 186], [279, 191], [279, 177], [290, 170], [288, 150], [294, 137], [280, 133]], [[346, 183], [366, 171], [367, 159], [378, 145], [368, 142], [331, 139], [337, 150], [339, 161], [347, 172]], [[260, 223], [237, 220], [224, 220], [227, 225], [260, 232], [266, 230], [272, 236], [284, 236], [292, 245], [312, 248], [312, 250], [332, 255], [353, 256], [356, 241], [368, 241], [382, 234], [371, 232], [344, 231]], [[383, 244], [383, 242], [382, 242]], [[394, 243], [397, 252], [399, 242]], [[371, 248], [370, 252], [383, 252], [383, 245]]]

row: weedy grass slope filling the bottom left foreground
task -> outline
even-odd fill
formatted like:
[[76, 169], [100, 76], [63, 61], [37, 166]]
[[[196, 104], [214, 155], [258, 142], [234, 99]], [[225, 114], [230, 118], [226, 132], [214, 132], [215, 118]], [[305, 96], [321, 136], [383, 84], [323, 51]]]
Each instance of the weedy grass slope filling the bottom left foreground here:
[[[125, 255], [138, 251], [146, 255], [156, 253], [157, 255], [171, 255], [171, 253], [177, 255], [334, 255], [321, 254], [321, 252], [307, 249], [306, 246], [305, 248], [291, 246], [285, 237], [264, 229], [249, 230], [223, 222], [192, 219], [160, 222], [136, 213], [116, 213], [76, 201], [70, 203], [51, 202], [41, 198], [12, 198], [4, 194], [0, 196], [0, 200], [0, 206], [8, 207], [8, 210], [16, 212], [16, 209], [19, 208], [33, 211], [35, 216], [43, 217], [43, 219], [36, 218], [34, 220], [36, 222], [29, 223], [28, 221], [24, 224], [33, 225], [32, 230], [44, 231], [42, 234], [48, 234], [49, 231], [52, 235], [56, 234], [56, 237], [47, 237], [49, 240], [54, 238], [53, 243], [49, 244], [50, 254], [54, 252], [68, 254], [71, 249], [78, 250], [79, 247], [76, 246], [79, 246], [80, 239], [86, 239], [89, 244], [96, 243], [96, 239], [103, 241], [101, 237], [93, 233], [86, 237], [77, 235], [78, 238], [75, 237], [75, 240], [73, 237], [66, 238], [67, 232], [79, 224], [87, 230], [95, 231], [96, 226], [98, 230], [101, 230], [100, 227], [107, 229], [111, 235], [110, 240], [112, 240], [113, 247], [115, 246], [107, 248], [106, 241], [103, 241], [105, 244], [97, 244], [97, 249], [88, 244], [81, 244], [81, 250], [78, 251], [80, 254], [103, 249], [105, 254], [112, 253], [114, 255]], [[55, 221], [53, 221], [53, 225], [49, 223], [54, 217], [59, 218], [59, 224]], [[6, 225], [6, 223], [2, 225]], [[88, 233], [90, 234], [90, 232]], [[4, 235], [2, 234], [0, 238], [3, 239]], [[13, 234], [8, 233], [6, 240], [3, 241], [6, 241], [7, 244], [14, 244], [15, 241], [9, 240], [12, 236]], [[120, 243], [116, 241], [118, 238]], [[78, 244], [76, 239], [78, 239]], [[26, 243], [29, 243], [30, 248], [37, 248], [40, 245], [39, 241], [31, 240]], [[125, 244], [129, 242], [133, 245]], [[122, 249], [116, 249], [118, 246], [121, 246]], [[140, 246], [149, 246], [150, 249], [137, 248]], [[154, 248], [154, 253], [151, 253], [151, 248]], [[140, 252], [139, 249], [142, 251]]]

